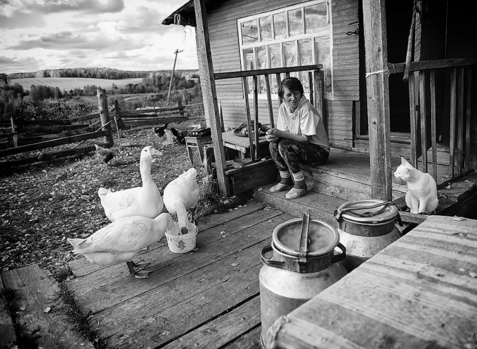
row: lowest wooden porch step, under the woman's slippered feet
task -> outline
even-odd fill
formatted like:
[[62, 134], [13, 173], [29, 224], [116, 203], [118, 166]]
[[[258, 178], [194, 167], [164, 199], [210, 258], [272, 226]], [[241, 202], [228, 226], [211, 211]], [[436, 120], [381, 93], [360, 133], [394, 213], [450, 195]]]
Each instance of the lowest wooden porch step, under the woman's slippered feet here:
[[270, 187], [275, 183], [263, 185], [254, 189], [254, 197], [263, 203], [271, 204], [274, 207], [287, 212], [295, 217], [302, 217], [303, 213], [309, 213], [312, 218], [323, 220], [336, 226], [336, 219], [333, 212], [347, 200], [343, 200], [334, 196], [320, 194], [314, 191], [308, 192], [306, 195], [298, 199], [289, 200], [285, 198], [287, 190], [271, 193]]

